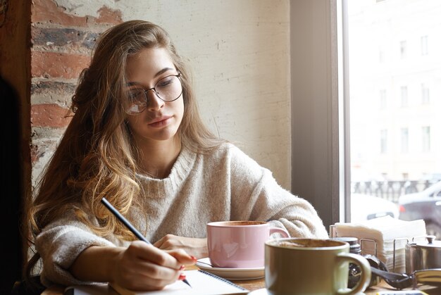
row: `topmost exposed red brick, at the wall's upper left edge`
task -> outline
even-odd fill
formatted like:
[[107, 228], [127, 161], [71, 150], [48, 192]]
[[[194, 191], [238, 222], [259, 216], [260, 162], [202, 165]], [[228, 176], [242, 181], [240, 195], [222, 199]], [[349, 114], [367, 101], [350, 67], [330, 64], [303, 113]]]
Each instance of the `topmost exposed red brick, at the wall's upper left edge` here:
[[76, 16], [66, 13], [66, 8], [58, 6], [54, 0], [34, 0], [32, 6], [32, 23], [56, 23], [66, 26], [85, 27], [87, 23], [123, 22], [122, 13], [106, 6], [99, 8], [98, 18], [93, 16]]

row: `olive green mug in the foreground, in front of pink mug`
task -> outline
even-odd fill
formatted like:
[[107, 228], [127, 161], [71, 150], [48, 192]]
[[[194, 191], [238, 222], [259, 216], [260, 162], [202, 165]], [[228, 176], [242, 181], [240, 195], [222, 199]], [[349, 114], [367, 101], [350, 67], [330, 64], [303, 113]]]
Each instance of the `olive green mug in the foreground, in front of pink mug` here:
[[[347, 288], [349, 263], [361, 277]], [[356, 294], [368, 287], [371, 266], [349, 253], [349, 244], [330, 239], [273, 239], [265, 243], [265, 287], [268, 294]]]

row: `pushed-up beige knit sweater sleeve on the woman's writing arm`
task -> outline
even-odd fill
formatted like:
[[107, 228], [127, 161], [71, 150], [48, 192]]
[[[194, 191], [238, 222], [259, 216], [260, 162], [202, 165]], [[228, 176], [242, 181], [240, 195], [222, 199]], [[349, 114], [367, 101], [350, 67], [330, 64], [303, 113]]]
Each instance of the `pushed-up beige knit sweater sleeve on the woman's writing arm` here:
[[42, 257], [42, 284], [92, 284], [77, 280], [69, 272], [78, 255], [89, 246], [115, 246], [98, 237], [75, 219], [63, 218], [46, 226], [35, 239], [35, 248]]

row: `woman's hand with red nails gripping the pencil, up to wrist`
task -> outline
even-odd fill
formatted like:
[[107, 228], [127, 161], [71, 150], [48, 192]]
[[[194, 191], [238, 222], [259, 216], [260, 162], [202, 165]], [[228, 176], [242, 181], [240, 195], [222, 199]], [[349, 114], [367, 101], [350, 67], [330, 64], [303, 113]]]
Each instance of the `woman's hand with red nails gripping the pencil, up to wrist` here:
[[133, 241], [116, 256], [111, 277], [112, 282], [132, 290], [163, 289], [176, 280], [184, 280], [184, 265], [194, 263], [194, 258], [183, 250], [162, 251], [144, 241]]

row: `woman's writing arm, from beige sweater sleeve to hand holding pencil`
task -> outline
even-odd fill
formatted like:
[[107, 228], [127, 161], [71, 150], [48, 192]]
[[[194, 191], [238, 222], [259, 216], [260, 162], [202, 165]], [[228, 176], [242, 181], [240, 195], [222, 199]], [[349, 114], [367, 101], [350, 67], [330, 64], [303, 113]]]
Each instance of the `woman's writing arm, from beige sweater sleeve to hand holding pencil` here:
[[182, 265], [195, 262], [181, 250], [161, 251], [144, 241], [130, 244], [98, 237], [71, 217], [44, 228], [35, 246], [42, 257], [41, 279], [46, 287], [117, 282], [130, 289], [160, 289], [180, 277]]

